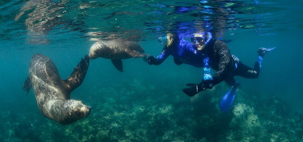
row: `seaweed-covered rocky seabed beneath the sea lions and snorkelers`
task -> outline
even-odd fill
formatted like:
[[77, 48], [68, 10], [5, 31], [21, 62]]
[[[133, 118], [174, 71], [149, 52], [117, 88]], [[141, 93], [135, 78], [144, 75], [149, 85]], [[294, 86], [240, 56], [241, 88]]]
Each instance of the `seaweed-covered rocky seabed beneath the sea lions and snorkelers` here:
[[92, 113], [67, 126], [45, 119], [37, 107], [18, 113], [1, 110], [0, 119], [5, 121], [0, 124], [0, 141], [303, 140], [302, 116], [289, 115], [287, 105], [276, 98], [259, 100], [241, 90], [231, 110], [221, 112], [218, 103], [228, 91], [222, 84], [195, 97], [186, 96], [178, 86], [167, 90], [138, 79], [86, 89], [82, 92], [88, 97], [82, 101], [92, 106]]

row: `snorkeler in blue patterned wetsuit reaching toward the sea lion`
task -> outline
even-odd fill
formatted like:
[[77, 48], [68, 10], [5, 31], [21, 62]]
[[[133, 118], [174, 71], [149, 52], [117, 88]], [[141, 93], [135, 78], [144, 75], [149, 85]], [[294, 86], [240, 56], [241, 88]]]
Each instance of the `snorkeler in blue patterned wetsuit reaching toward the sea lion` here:
[[180, 40], [178, 35], [167, 34], [165, 37], [160, 37], [159, 42], [164, 45], [162, 53], [157, 57], [150, 56], [148, 64], [159, 65], [169, 55], [174, 57], [174, 62], [177, 65], [189, 64], [197, 68], [204, 68], [203, 83], [212, 88], [212, 77], [210, 74], [209, 58], [206, 54], [198, 52], [197, 46], [186, 40]]

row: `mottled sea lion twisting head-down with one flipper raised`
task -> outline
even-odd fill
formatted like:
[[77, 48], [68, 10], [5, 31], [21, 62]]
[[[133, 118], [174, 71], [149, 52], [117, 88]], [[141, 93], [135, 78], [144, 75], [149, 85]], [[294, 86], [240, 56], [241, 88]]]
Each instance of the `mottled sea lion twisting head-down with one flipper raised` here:
[[91, 107], [82, 104], [82, 101], [70, 100], [70, 93], [82, 84], [88, 65], [89, 57], [85, 55], [72, 74], [62, 80], [50, 58], [35, 54], [23, 90], [27, 95], [33, 86], [43, 116], [63, 125], [71, 124], [87, 117], [91, 112]]

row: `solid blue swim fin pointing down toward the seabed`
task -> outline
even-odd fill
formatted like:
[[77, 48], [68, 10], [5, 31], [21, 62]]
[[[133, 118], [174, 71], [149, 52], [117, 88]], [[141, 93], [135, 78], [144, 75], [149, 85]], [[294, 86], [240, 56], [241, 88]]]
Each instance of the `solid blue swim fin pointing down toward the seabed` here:
[[219, 104], [219, 108], [223, 112], [227, 112], [231, 107], [232, 102], [235, 99], [236, 93], [238, 91], [238, 85], [233, 86], [231, 90], [229, 90], [225, 96], [223, 97], [222, 101]]

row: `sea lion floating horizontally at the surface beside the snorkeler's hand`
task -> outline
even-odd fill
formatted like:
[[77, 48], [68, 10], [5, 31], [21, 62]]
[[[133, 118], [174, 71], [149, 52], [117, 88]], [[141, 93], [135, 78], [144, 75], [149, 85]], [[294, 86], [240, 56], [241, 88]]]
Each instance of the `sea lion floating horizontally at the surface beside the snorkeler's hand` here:
[[147, 61], [144, 49], [132, 41], [98, 41], [89, 49], [89, 58], [96, 59], [99, 57], [111, 59], [118, 71], [123, 72], [122, 60], [129, 58], [143, 57]]

